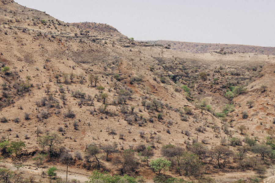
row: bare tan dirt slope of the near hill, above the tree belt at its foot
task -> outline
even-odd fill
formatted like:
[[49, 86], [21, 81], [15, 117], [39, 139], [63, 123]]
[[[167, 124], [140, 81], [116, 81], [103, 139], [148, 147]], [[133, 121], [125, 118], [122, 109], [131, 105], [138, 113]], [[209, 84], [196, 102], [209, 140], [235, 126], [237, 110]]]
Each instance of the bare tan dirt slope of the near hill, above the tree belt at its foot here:
[[[236, 110], [232, 114], [236, 122], [229, 129], [236, 131], [239, 124], [252, 125], [247, 129], [248, 135], [254, 133], [263, 139], [266, 129], [272, 125], [274, 56], [193, 54], [160, 45], [130, 42], [113, 27], [93, 24], [94, 27], [85, 31], [90, 23], [79, 23], [75, 27], [75, 24], [64, 23], [12, 0], [0, 2], [0, 19], [0, 66], [1, 69], [10, 67], [9, 74], [2, 72], [0, 78], [0, 117], [7, 119], [0, 123], [0, 135], [11, 141], [24, 141], [27, 146], [25, 154], [41, 150], [37, 144], [37, 128], [39, 136], [57, 132], [69, 152], [80, 151], [82, 156], [91, 143], [100, 146], [116, 142], [121, 150], [135, 149], [139, 144], [151, 145], [154, 157], [160, 157], [163, 145], [171, 143], [186, 148], [197, 137], [198, 142], [211, 149], [227, 135], [223, 130], [213, 128], [222, 129], [221, 119], [215, 117], [213, 111], [199, 109], [197, 104], [205, 99], [214, 111], [221, 111], [231, 102], [225, 98], [229, 82], [244, 85], [248, 90], [233, 99]], [[207, 80], [200, 79], [201, 72], [207, 73]], [[65, 82], [64, 73], [72, 73], [74, 77]], [[97, 97], [101, 93], [94, 87], [94, 82], [91, 86], [90, 74], [99, 76], [97, 86], [103, 86], [103, 93], [108, 94], [108, 113], [100, 112], [103, 100]], [[28, 83], [26, 76], [31, 78], [28, 89], [22, 88]], [[218, 78], [218, 83], [213, 84], [213, 78]], [[131, 92], [125, 104], [118, 104], [119, 92], [114, 84], [119, 84], [118, 91]], [[262, 84], [268, 86], [264, 93], [259, 91]], [[190, 95], [180, 88], [182, 85], [190, 87]], [[77, 90], [85, 93], [84, 99], [72, 96]], [[47, 108], [42, 99], [49, 94], [53, 96], [53, 105]], [[255, 107], [244, 107], [248, 97], [255, 100]], [[162, 103], [157, 110], [143, 106], [143, 100], [150, 103], [154, 99]], [[241, 107], [237, 107], [238, 103]], [[72, 107], [74, 118], [65, 117], [68, 106]], [[189, 107], [192, 113], [185, 114], [184, 107]], [[240, 119], [244, 108], [249, 113], [247, 120]], [[163, 115], [162, 119], [157, 118], [159, 113]], [[259, 115], [254, 117], [253, 113]], [[78, 121], [78, 129], [73, 127], [75, 121]], [[259, 123], [263, 125], [259, 127]], [[108, 133], [110, 128], [115, 133]], [[184, 131], [191, 135], [185, 135]], [[120, 138], [122, 134], [123, 138]], [[244, 135], [237, 132], [234, 137], [244, 139]], [[101, 162], [104, 170], [118, 173], [111, 162], [104, 158]], [[53, 162], [47, 163], [52, 165]], [[84, 165], [79, 162], [74, 168], [81, 171], [81, 168], [87, 168]], [[93, 168], [91, 165], [87, 169]], [[216, 169], [212, 171], [213, 174], [217, 172]], [[142, 175], [148, 180], [154, 176], [152, 170], [144, 165], [130, 174]], [[167, 174], [175, 175], [175, 172]], [[248, 175], [252, 174], [248, 172]]]

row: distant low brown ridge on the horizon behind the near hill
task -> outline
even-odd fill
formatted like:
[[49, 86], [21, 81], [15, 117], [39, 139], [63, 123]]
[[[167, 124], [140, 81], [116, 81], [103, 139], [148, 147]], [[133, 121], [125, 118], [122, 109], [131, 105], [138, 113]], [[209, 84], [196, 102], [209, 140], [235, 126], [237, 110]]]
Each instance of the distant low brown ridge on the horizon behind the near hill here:
[[209, 53], [220, 50], [224, 47], [224, 51], [233, 52], [245, 52], [245, 53], [258, 53], [265, 55], [275, 55], [275, 47], [262, 47], [262, 46], [251, 46], [251, 45], [236, 45], [236, 44], [216, 44], [216, 43], [195, 43], [195, 42], [182, 42], [182, 41], [144, 41], [151, 44], [160, 44], [167, 46], [171, 45], [171, 49], [192, 52], [192, 53]]

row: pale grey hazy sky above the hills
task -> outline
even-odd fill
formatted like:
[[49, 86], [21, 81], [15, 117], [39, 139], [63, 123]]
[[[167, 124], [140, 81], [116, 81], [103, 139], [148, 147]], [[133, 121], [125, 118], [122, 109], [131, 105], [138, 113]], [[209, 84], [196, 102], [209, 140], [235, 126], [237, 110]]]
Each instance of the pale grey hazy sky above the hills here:
[[135, 40], [275, 46], [275, 0], [15, 0], [64, 22], [97, 22]]

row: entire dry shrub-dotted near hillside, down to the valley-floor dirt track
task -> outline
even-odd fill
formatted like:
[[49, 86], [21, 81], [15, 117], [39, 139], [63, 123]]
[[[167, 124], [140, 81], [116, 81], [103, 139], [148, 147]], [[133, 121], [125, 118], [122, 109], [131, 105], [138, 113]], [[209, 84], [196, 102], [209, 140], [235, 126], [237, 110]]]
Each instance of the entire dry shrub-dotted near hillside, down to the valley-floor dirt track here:
[[[250, 158], [272, 170], [274, 150], [261, 160], [244, 142], [256, 136], [258, 144], [266, 142], [274, 127], [272, 54], [166, 49], [129, 41], [105, 24], [64, 23], [13, 0], [0, 1], [0, 19], [1, 171], [49, 182], [42, 172], [56, 166], [57, 178], [65, 178], [69, 162], [71, 182], [87, 181], [93, 170], [153, 182], [158, 172], [146, 157], [171, 160], [161, 173], [193, 182], [209, 176], [212, 182], [233, 182], [238, 175], [251, 181], [258, 173], [246, 164]], [[234, 96], [226, 97], [229, 91]], [[53, 149], [42, 141], [49, 134], [58, 137]], [[5, 142], [20, 141], [26, 147], [18, 154], [5, 148]], [[163, 154], [163, 146], [180, 151], [179, 157], [192, 153], [196, 171], [186, 173], [173, 153]], [[95, 155], [87, 154], [90, 147], [98, 148]], [[142, 154], [147, 147], [150, 156]], [[236, 160], [242, 147], [248, 150]], [[215, 148], [230, 150], [222, 163], [213, 159]], [[41, 153], [47, 153], [43, 163], [33, 159]], [[64, 154], [71, 155], [65, 163]], [[20, 171], [18, 163], [24, 164]]]

